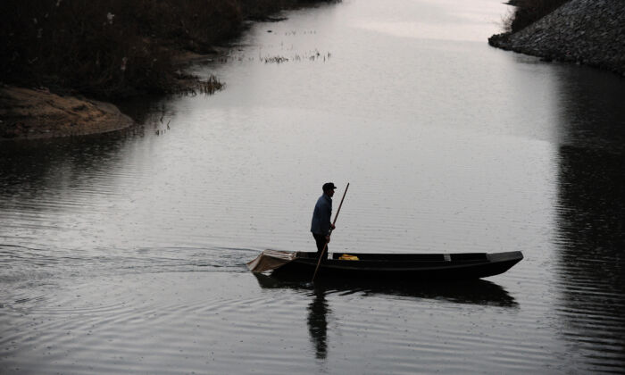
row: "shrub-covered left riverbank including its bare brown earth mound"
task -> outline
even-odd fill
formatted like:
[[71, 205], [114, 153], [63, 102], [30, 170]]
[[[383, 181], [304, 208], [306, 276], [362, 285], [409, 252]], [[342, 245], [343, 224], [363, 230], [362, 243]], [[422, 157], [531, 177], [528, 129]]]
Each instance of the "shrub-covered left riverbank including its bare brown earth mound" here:
[[[0, 140], [128, 127], [111, 103], [132, 96], [212, 94], [222, 83], [184, 71], [219, 55], [250, 21], [328, 0], [3, 2]], [[80, 110], [77, 110], [80, 108]]]

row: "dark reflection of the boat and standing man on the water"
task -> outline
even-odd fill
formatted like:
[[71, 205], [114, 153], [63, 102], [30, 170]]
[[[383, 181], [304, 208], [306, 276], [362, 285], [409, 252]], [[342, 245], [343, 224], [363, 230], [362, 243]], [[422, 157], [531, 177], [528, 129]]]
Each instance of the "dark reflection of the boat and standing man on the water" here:
[[328, 321], [332, 310], [329, 295], [399, 296], [414, 299], [433, 299], [454, 304], [481, 304], [517, 310], [513, 296], [491, 281], [483, 279], [463, 281], [415, 282], [401, 280], [316, 279], [314, 283], [253, 272], [263, 289], [292, 289], [312, 297], [308, 304], [308, 330], [317, 359], [328, 354]]

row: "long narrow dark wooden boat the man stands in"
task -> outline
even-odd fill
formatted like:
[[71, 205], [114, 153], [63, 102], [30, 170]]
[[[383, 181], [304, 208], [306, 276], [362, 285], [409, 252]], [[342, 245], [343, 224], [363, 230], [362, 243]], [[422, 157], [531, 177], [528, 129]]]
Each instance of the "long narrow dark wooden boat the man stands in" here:
[[[347, 255], [347, 256], [346, 256]], [[520, 251], [462, 254], [332, 254], [321, 262], [320, 279], [480, 279], [508, 271], [523, 259]], [[312, 279], [316, 253], [265, 250], [247, 263], [250, 271]]]

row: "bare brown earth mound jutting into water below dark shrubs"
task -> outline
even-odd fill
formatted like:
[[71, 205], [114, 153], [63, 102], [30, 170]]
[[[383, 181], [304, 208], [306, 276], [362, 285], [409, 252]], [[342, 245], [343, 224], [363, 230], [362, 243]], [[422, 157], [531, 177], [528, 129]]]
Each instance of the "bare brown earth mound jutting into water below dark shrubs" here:
[[113, 104], [47, 90], [0, 87], [0, 141], [104, 133], [132, 123]]

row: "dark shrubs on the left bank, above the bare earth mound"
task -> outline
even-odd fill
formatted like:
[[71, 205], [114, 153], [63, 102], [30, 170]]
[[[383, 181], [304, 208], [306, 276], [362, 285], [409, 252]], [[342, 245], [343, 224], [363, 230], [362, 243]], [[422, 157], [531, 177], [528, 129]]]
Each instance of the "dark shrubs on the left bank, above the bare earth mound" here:
[[101, 98], [171, 92], [176, 54], [210, 52], [236, 37], [246, 18], [299, 3], [3, 0], [0, 83]]

